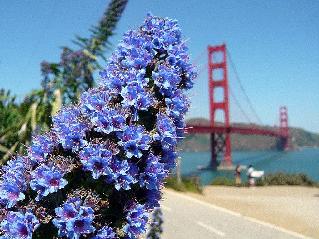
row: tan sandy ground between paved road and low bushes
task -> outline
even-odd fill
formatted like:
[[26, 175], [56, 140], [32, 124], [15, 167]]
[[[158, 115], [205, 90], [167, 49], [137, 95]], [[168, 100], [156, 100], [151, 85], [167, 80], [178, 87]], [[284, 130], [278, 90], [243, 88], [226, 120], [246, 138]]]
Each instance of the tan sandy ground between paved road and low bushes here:
[[301, 186], [205, 186], [186, 195], [291, 231], [319, 238], [319, 188]]

